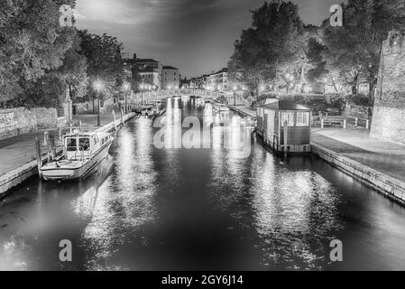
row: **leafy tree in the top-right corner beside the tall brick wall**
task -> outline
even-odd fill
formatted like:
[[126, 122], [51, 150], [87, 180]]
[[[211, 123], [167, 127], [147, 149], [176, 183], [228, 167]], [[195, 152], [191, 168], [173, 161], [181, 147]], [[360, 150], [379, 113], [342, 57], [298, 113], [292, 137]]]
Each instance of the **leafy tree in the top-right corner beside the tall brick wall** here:
[[350, 0], [343, 5], [343, 27], [323, 25], [323, 41], [327, 46], [324, 58], [327, 68], [352, 87], [364, 79], [370, 84], [369, 97], [377, 83], [382, 41], [388, 32], [405, 24], [405, 1]]

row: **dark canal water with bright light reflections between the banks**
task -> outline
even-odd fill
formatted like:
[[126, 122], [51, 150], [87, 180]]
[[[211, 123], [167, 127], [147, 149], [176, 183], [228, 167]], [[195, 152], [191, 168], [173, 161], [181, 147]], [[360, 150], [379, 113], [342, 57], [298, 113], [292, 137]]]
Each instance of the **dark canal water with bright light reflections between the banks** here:
[[[201, 148], [176, 144], [187, 117], [206, 129], [189, 138]], [[133, 119], [85, 181], [33, 178], [1, 200], [0, 269], [405, 269], [400, 205], [315, 157], [274, 156], [249, 121], [209, 105], [171, 99], [159, 123]]]

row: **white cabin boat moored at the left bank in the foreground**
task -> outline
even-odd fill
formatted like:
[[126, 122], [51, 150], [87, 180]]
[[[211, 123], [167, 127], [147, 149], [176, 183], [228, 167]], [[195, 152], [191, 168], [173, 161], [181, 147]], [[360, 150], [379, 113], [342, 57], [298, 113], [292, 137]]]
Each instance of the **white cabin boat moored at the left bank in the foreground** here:
[[107, 133], [73, 132], [63, 136], [63, 155], [41, 167], [46, 181], [84, 179], [108, 155], [114, 137]]

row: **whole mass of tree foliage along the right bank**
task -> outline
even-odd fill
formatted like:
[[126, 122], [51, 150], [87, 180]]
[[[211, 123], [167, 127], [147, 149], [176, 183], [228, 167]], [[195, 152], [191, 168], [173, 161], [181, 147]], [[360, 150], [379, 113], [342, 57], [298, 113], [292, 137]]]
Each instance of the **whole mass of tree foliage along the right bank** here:
[[[302, 92], [303, 83], [327, 81], [336, 92], [377, 81], [382, 41], [405, 27], [405, 0], [349, 0], [344, 26], [304, 25], [297, 5], [273, 0], [253, 10], [252, 27], [235, 42], [231, 79], [257, 89], [260, 83]], [[294, 78], [291, 78], [291, 75]]]

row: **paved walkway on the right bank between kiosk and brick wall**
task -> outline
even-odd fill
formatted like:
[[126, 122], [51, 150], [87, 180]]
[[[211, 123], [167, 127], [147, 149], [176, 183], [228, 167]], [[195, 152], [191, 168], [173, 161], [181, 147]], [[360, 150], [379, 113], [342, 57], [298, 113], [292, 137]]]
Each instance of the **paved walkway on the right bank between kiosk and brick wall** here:
[[405, 145], [375, 139], [364, 129], [313, 129], [312, 142], [405, 182]]

